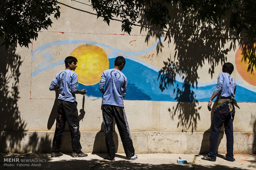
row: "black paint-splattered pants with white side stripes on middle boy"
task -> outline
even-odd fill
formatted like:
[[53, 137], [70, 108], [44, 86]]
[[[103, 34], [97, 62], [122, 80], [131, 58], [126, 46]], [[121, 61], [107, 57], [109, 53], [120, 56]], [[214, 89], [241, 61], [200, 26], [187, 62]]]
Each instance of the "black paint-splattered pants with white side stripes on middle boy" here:
[[113, 105], [102, 105], [102, 115], [104, 124], [105, 140], [107, 145], [107, 153], [110, 158], [115, 157], [116, 147], [113, 140], [113, 118], [115, 118], [123, 149], [126, 157], [134, 156], [133, 140], [130, 135], [130, 129], [126, 119], [126, 113], [123, 107]]

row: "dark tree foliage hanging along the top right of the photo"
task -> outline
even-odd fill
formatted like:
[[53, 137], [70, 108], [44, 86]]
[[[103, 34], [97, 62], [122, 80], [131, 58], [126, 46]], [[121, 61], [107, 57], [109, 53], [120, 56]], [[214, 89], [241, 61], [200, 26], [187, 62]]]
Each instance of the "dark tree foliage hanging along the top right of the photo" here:
[[202, 22], [218, 25], [223, 16], [230, 17], [230, 29], [237, 34], [246, 32], [249, 39], [256, 38], [255, 0], [91, 0], [98, 17], [102, 16], [109, 24], [113, 17], [122, 19], [122, 30], [130, 34], [139, 14], [152, 25], [167, 28], [170, 20], [169, 4], [179, 5], [187, 15], [199, 18]]

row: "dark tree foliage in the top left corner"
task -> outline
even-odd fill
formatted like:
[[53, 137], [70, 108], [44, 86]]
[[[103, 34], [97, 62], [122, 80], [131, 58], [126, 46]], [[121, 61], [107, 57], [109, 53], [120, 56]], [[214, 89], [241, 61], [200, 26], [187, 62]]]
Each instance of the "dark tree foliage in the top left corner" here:
[[28, 47], [38, 31], [52, 24], [50, 15], [60, 16], [57, 0], [2, 0], [0, 4], [0, 37], [6, 48], [18, 42]]

